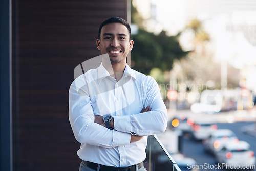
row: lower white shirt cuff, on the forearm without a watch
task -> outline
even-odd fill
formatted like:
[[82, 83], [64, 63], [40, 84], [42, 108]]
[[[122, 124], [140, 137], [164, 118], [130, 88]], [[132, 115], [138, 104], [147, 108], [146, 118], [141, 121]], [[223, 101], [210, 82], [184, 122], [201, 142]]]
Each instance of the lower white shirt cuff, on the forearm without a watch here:
[[113, 135], [114, 135], [114, 142], [113, 142], [114, 147], [130, 144], [130, 141], [131, 141], [130, 134], [119, 132], [119, 131], [113, 131]]

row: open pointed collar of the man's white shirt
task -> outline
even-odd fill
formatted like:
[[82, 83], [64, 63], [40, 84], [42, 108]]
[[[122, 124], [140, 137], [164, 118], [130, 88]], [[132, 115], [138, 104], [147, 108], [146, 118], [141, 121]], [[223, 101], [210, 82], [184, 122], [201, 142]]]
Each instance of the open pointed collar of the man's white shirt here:
[[[105, 67], [103, 66], [102, 63], [98, 67], [97, 76], [98, 76], [98, 83], [100, 83], [101, 80], [103, 80], [105, 77], [110, 76], [109, 72], [105, 69]], [[136, 76], [135, 76], [134, 70], [131, 69], [130, 66], [126, 63], [126, 66], [125, 66], [125, 69], [124, 69], [124, 72], [123, 72], [123, 77], [127, 77], [127, 76], [131, 76], [131, 77], [133, 77], [136, 80]]]

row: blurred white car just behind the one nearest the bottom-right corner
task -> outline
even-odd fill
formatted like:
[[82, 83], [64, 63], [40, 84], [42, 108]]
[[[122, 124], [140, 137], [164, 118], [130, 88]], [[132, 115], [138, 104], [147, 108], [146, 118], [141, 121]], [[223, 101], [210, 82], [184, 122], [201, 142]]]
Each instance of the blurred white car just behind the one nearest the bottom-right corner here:
[[237, 142], [238, 137], [229, 129], [218, 129], [212, 132], [208, 139], [203, 141], [204, 150], [211, 154], [216, 154], [225, 143]]

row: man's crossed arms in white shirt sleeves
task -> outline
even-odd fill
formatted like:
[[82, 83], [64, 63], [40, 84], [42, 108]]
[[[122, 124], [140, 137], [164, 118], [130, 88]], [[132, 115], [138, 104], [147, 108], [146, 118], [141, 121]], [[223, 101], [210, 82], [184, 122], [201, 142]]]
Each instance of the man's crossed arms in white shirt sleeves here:
[[[104, 114], [96, 111], [98, 115], [95, 115], [97, 107], [93, 107], [95, 106], [93, 103], [97, 102], [92, 101], [88, 95], [79, 94], [72, 84], [69, 91], [69, 120], [76, 140], [80, 143], [113, 148], [139, 141], [143, 136], [164, 132], [167, 126], [167, 112], [158, 85], [153, 79], [146, 84], [146, 92], [135, 97], [139, 99], [143, 96], [143, 101], [140, 99], [138, 101], [140, 103], [128, 107], [134, 111], [132, 112], [134, 114], [124, 109], [123, 112], [126, 112], [124, 115], [113, 117], [111, 125], [114, 130], [105, 128], [103, 116], [98, 116]], [[143, 104], [150, 107], [141, 110], [140, 106]], [[102, 105], [100, 107], [104, 108]], [[141, 110], [140, 113], [136, 113], [138, 110]]]

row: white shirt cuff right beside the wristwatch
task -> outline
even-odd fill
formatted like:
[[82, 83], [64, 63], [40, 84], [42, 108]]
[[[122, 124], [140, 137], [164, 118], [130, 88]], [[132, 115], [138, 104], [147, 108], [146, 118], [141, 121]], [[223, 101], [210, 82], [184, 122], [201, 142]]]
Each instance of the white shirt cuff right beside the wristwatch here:
[[114, 126], [115, 130], [120, 132], [131, 132], [131, 116], [114, 116]]

